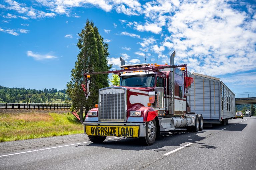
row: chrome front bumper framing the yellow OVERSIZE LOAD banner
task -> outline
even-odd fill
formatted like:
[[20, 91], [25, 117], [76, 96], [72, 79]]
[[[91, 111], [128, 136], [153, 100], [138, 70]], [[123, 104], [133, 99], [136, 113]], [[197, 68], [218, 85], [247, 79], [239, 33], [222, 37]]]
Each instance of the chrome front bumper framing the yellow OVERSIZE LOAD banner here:
[[105, 126], [139, 126], [139, 137], [146, 137], [146, 123], [144, 122], [84, 122], [84, 134], [86, 125], [105, 125]]

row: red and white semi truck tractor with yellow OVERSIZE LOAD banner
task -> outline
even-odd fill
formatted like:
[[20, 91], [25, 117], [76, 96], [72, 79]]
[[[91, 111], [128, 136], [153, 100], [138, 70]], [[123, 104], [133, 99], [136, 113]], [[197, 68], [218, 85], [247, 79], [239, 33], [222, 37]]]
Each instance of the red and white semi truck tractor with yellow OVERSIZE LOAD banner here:
[[[99, 102], [87, 112], [85, 119], [72, 114], [84, 125], [84, 133], [94, 143], [106, 136], [140, 138], [145, 145], [154, 143], [161, 132], [187, 128], [188, 132], [203, 130], [203, 116], [191, 112], [187, 96], [193, 78], [187, 65], [125, 65], [120, 57], [121, 70], [85, 73], [82, 88], [88, 99], [90, 76], [113, 73], [120, 76], [120, 86], [99, 89]], [[92, 82], [93, 83], [93, 82]]]

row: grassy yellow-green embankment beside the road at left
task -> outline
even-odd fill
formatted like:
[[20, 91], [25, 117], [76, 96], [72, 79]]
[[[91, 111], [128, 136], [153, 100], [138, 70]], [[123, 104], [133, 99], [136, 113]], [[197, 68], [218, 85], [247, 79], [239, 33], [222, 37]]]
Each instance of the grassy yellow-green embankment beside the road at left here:
[[83, 133], [70, 113], [0, 113], [0, 142]]

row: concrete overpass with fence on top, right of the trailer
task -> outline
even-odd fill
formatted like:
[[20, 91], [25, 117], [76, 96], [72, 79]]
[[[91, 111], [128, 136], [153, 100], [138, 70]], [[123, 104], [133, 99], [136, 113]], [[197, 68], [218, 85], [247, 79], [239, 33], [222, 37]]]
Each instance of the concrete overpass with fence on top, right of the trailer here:
[[256, 104], [256, 92], [244, 92], [236, 94], [236, 105]]

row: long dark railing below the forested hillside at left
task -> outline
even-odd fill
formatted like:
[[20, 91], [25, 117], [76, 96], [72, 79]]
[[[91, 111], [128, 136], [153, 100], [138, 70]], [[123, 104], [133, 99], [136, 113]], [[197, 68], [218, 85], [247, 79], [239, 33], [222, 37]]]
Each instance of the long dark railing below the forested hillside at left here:
[[70, 109], [66, 103], [0, 103], [0, 109]]

